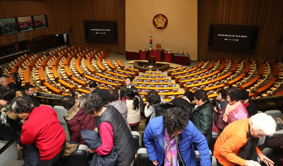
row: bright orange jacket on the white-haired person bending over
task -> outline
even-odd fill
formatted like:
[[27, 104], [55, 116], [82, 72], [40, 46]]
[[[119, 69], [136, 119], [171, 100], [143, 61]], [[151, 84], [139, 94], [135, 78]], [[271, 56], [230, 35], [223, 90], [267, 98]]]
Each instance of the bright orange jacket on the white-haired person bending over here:
[[[245, 160], [236, 156], [241, 147], [247, 143], [249, 119], [230, 123], [219, 135], [214, 145], [213, 156], [225, 166], [244, 165]], [[256, 146], [257, 154], [262, 153]]]

